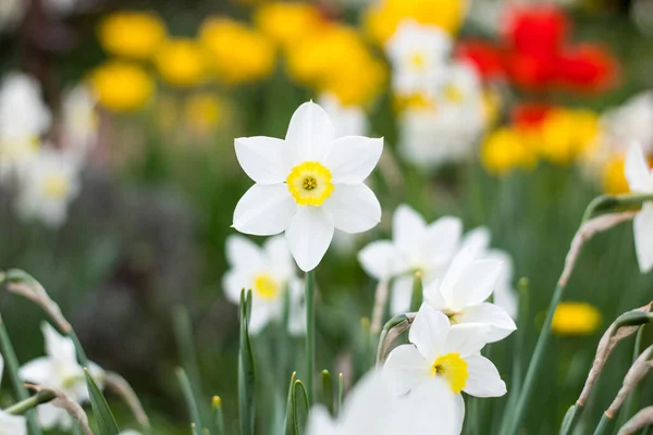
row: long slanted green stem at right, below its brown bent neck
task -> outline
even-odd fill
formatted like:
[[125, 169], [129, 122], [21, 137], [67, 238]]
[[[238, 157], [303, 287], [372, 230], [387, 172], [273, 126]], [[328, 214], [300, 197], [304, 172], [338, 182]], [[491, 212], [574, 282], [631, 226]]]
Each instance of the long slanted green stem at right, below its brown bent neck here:
[[531, 362], [526, 372], [526, 377], [521, 386], [521, 391], [519, 393], [519, 399], [517, 400], [515, 411], [512, 412], [512, 419], [509, 420], [507, 430], [504, 431], [505, 434], [517, 434], [517, 432], [519, 431], [519, 425], [521, 424], [521, 420], [523, 419], [523, 414], [526, 413], [528, 401], [534, 390], [534, 384], [538, 377], [538, 372], [540, 371], [540, 366], [544, 361], [544, 352], [546, 350], [546, 346], [549, 345], [549, 339], [551, 338], [551, 323], [553, 322], [553, 315], [558, 303], [563, 299], [564, 293], [565, 286], [558, 284], [555, 287], [553, 298], [551, 299], [551, 303], [549, 306], [549, 312], [546, 313], [546, 320], [544, 322], [544, 325], [542, 326], [542, 332], [540, 333], [540, 337], [538, 338], [535, 350], [533, 351]]

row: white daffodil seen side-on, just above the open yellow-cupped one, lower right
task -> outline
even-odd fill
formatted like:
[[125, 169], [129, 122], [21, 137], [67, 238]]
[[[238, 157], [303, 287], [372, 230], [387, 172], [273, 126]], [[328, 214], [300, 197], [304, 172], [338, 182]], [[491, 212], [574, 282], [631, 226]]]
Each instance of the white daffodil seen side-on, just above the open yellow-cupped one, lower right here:
[[458, 252], [444, 277], [424, 288], [424, 301], [446, 314], [452, 324], [482, 326], [486, 341], [498, 341], [517, 330], [506, 311], [486, 302], [503, 264], [496, 259], [477, 260], [477, 254], [469, 247]]

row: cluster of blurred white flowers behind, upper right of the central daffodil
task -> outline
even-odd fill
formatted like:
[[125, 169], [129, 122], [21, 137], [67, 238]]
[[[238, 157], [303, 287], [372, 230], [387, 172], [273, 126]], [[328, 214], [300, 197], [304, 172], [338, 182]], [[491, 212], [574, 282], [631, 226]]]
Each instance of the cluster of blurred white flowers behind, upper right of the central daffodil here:
[[401, 152], [424, 171], [470, 156], [485, 124], [480, 78], [451, 58], [452, 45], [440, 28], [406, 21], [385, 46], [402, 107]]

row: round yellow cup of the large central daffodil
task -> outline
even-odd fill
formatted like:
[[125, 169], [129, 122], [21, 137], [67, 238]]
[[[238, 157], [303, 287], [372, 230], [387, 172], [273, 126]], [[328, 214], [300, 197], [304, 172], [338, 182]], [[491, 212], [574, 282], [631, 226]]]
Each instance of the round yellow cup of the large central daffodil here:
[[321, 206], [333, 194], [331, 171], [319, 162], [304, 162], [293, 167], [286, 184], [299, 206]]

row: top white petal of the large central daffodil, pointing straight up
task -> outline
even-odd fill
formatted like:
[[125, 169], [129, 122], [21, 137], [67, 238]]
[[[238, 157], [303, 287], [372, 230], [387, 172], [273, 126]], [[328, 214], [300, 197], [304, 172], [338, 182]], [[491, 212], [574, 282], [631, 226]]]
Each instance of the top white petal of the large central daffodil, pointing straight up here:
[[321, 107], [310, 101], [297, 108], [286, 134], [293, 165], [306, 161], [323, 161], [334, 140], [333, 124]]

